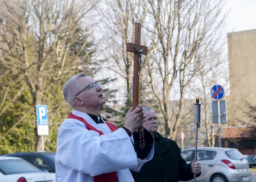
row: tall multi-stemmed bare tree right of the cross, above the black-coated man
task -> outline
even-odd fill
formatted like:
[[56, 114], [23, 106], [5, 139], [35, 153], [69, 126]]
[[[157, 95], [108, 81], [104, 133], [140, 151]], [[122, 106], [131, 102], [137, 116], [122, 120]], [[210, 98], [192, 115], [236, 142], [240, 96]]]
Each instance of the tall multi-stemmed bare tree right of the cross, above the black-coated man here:
[[[166, 137], [176, 138], [185, 114], [184, 97], [190, 95], [188, 86], [196, 84], [199, 70], [209, 64], [205, 58], [218, 53], [219, 33], [225, 25], [224, 1], [147, 2], [149, 14], [144, 25], [153, 37], [148, 44], [154, 48], [149, 52], [152, 59], [146, 62], [147, 82], [164, 116]], [[179, 97], [173, 98], [174, 93]], [[175, 112], [171, 111], [171, 99], [179, 99]]]

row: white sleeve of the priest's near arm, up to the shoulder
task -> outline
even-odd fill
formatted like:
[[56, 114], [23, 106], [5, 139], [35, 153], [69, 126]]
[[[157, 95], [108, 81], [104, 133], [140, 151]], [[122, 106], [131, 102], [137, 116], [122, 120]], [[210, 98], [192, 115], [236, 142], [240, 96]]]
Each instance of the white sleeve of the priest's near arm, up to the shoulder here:
[[91, 176], [138, 166], [132, 142], [123, 128], [99, 136], [75, 119], [59, 127], [56, 163]]

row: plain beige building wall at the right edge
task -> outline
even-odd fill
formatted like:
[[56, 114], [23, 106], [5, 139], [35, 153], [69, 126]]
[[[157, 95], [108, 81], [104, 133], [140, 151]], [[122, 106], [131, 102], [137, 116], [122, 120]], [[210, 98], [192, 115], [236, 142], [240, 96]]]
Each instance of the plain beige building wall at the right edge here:
[[229, 116], [233, 124], [253, 124], [246, 112], [247, 103], [256, 106], [256, 29], [228, 33], [228, 56]]

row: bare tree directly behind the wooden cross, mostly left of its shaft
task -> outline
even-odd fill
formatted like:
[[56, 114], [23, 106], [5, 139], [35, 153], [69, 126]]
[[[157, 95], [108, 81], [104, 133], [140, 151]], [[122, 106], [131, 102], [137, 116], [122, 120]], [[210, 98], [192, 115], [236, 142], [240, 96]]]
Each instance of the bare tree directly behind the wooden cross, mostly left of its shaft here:
[[[145, 11], [142, 3], [134, 0], [106, 0], [105, 8], [102, 9], [104, 14], [103, 25], [106, 41], [104, 46], [106, 66], [108, 69], [116, 73], [115, 77], [119, 77], [117, 82], [121, 86], [117, 86], [116, 90], [125, 88], [123, 94], [127, 94], [130, 99], [132, 91], [132, 75], [133, 75], [133, 54], [126, 52], [126, 43], [134, 41], [134, 23], [145, 19]], [[143, 33], [146, 30], [142, 30]], [[143, 41], [142, 41], [143, 42]], [[123, 86], [125, 84], [125, 86]], [[126, 99], [122, 101], [126, 101]], [[128, 106], [130, 107], [130, 106]]]

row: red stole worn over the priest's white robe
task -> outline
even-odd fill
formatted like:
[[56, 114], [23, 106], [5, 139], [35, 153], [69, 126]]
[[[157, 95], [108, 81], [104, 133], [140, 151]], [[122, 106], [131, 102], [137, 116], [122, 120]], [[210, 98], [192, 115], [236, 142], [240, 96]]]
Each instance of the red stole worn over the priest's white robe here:
[[[72, 118], [72, 119], [77, 119], [79, 121], [82, 121], [86, 128], [88, 130], [92, 130], [92, 131], [96, 131], [98, 132], [100, 135], [103, 135], [102, 131], [97, 130], [95, 127], [91, 126], [89, 123], [87, 123], [82, 117], [78, 117], [75, 116], [72, 113], [69, 113], [68, 118]], [[116, 125], [114, 125], [113, 123], [107, 122], [105, 121], [105, 123], [108, 125], [108, 127], [110, 128], [111, 132], [116, 131], [118, 128]], [[101, 174], [98, 176], [93, 176], [93, 181], [94, 182], [118, 182], [117, 180], [117, 174], [116, 172], [111, 172], [111, 173], [105, 173], [105, 174]]]

